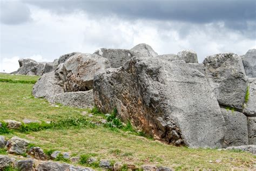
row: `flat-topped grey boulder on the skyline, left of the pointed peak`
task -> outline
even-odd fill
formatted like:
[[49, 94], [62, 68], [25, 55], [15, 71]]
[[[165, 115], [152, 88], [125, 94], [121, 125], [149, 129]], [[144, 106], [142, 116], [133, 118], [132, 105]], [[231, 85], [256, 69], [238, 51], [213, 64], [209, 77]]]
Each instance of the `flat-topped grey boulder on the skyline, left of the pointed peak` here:
[[110, 66], [117, 68], [122, 66], [127, 60], [131, 59], [135, 53], [126, 49], [99, 49], [95, 51], [95, 54], [107, 58], [110, 62]]

